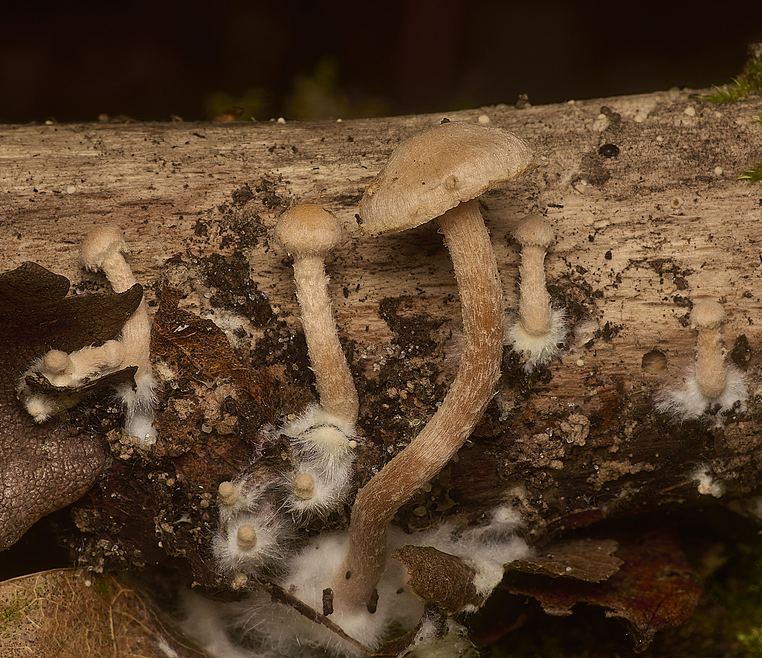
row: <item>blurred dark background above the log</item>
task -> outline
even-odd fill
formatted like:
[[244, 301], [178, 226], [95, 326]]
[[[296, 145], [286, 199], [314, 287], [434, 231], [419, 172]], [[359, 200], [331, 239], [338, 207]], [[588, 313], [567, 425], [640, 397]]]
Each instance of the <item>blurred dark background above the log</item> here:
[[[24, 6], [21, 6], [21, 5]], [[705, 9], [703, 7], [711, 7]], [[729, 82], [758, 2], [18, 3], [0, 121], [349, 118]]]

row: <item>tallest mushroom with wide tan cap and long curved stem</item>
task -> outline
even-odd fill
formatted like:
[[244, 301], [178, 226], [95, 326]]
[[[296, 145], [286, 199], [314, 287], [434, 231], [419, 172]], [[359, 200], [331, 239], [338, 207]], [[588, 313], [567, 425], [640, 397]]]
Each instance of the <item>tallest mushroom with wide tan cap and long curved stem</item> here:
[[360, 489], [347, 555], [335, 575], [338, 605], [364, 609], [386, 564], [386, 528], [418, 488], [450, 461], [495, 393], [503, 348], [503, 298], [495, 253], [475, 197], [530, 169], [527, 143], [497, 128], [450, 122], [411, 136], [360, 201], [364, 233], [439, 217], [463, 316], [463, 356], [440, 409], [423, 431]]

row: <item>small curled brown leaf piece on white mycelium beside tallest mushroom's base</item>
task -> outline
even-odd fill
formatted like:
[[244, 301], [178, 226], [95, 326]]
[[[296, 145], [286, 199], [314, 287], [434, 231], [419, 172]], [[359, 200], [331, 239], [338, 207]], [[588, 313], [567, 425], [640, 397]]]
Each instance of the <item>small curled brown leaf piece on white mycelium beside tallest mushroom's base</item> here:
[[431, 546], [403, 546], [392, 557], [405, 565], [408, 583], [416, 594], [454, 615], [470, 603], [484, 605], [485, 597], [476, 593], [473, 579], [476, 570], [459, 557]]

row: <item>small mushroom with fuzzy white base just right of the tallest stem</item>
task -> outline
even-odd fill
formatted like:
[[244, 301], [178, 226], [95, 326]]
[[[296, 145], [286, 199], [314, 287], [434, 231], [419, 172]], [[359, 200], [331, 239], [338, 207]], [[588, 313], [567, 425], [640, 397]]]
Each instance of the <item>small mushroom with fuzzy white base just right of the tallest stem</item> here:
[[559, 353], [566, 336], [566, 313], [552, 307], [545, 282], [545, 255], [555, 232], [541, 215], [527, 215], [514, 231], [521, 245], [519, 316], [507, 330], [507, 344], [523, 353], [527, 372]]

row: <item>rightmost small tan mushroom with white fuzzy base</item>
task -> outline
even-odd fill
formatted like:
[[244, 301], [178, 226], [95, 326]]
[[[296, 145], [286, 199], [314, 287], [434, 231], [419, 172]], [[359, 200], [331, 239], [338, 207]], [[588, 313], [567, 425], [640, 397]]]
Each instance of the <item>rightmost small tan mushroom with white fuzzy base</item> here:
[[722, 425], [722, 412], [738, 406], [746, 408], [746, 377], [735, 366], [725, 364], [722, 349], [722, 323], [725, 310], [709, 300], [693, 306], [691, 329], [698, 331], [696, 361], [687, 373], [684, 386], [660, 390], [655, 397], [657, 411], [679, 421], [702, 419]]

